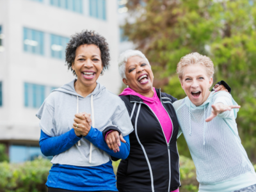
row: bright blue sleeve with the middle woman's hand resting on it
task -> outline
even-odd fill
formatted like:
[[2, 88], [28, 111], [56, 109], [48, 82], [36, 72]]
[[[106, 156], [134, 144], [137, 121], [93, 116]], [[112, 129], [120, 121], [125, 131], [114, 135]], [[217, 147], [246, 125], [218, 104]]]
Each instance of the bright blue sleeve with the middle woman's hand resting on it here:
[[84, 138], [90, 141], [95, 147], [100, 148], [101, 150], [104, 150], [104, 152], [106, 152], [110, 156], [116, 157], [118, 159], [126, 159], [129, 156], [129, 152], [130, 152], [129, 135], [124, 137], [124, 140], [126, 141], [126, 143], [121, 142], [121, 146], [119, 147], [120, 152], [116, 152], [116, 153], [113, 152], [113, 150], [111, 150], [108, 147], [108, 144], [104, 140], [102, 132], [99, 131], [98, 129], [91, 127], [90, 131]]

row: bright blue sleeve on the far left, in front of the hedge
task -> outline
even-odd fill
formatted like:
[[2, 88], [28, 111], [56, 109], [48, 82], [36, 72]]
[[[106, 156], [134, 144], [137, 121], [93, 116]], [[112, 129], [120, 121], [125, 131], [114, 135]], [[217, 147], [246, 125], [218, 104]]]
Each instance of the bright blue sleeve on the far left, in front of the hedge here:
[[74, 129], [55, 137], [51, 137], [41, 130], [39, 145], [44, 156], [56, 156], [68, 150], [79, 140], [81, 138], [76, 136]]

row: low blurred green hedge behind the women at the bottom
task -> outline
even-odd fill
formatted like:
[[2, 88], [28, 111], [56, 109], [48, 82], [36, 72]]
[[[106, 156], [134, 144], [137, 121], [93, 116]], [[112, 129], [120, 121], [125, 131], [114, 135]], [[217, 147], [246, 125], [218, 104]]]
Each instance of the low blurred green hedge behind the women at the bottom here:
[[[120, 161], [113, 161], [116, 173]], [[48, 159], [25, 163], [0, 163], [0, 192], [45, 192], [45, 183], [52, 164]], [[254, 165], [256, 171], [256, 164]], [[198, 191], [195, 165], [188, 157], [180, 156], [180, 192]]]

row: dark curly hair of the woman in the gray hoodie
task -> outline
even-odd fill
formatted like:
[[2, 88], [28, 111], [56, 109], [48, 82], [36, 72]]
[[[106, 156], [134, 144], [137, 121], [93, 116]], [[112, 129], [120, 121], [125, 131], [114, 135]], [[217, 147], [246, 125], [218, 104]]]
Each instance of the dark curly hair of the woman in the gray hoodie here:
[[66, 65], [68, 66], [68, 70], [70, 69], [73, 72], [74, 76], [76, 76], [76, 72], [72, 69], [72, 63], [74, 63], [76, 58], [76, 49], [84, 44], [97, 45], [100, 49], [103, 70], [109, 67], [110, 54], [106, 38], [95, 33], [95, 31], [82, 31], [81, 33], [72, 35], [66, 47]]

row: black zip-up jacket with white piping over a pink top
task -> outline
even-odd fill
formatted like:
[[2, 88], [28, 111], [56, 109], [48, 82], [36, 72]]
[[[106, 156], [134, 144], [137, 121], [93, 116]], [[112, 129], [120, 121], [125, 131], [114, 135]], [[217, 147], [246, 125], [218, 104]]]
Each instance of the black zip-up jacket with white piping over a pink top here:
[[161, 104], [172, 121], [172, 136], [166, 142], [161, 124], [152, 109], [135, 95], [122, 95], [134, 131], [129, 134], [130, 154], [120, 162], [116, 186], [118, 191], [170, 192], [179, 188], [179, 123], [172, 103], [174, 97], [156, 89]]

